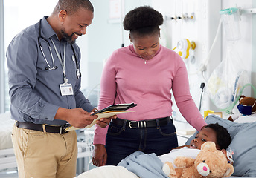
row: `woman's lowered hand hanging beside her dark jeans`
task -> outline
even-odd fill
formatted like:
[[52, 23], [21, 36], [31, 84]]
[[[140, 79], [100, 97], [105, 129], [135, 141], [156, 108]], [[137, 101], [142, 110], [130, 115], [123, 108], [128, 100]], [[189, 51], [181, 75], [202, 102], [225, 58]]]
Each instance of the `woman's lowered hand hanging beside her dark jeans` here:
[[92, 153], [92, 163], [96, 166], [102, 166], [106, 165], [106, 148], [105, 145], [102, 144], [96, 144], [95, 149]]

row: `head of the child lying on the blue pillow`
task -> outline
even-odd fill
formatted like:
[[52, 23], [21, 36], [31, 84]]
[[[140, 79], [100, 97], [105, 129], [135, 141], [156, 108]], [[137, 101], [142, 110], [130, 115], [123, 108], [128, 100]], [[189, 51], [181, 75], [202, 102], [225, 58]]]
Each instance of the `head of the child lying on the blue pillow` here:
[[201, 145], [207, 141], [215, 142], [218, 150], [227, 149], [231, 143], [231, 136], [218, 123], [205, 125], [191, 141], [190, 148], [201, 149]]

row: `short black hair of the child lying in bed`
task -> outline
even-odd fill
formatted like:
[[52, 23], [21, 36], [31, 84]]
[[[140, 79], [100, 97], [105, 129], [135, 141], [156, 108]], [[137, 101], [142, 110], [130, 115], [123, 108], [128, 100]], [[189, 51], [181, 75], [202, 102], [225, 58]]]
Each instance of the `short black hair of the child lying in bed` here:
[[228, 145], [231, 143], [231, 136], [228, 133], [227, 129], [218, 123], [205, 125], [205, 128], [211, 128], [216, 133], [217, 145], [220, 146], [220, 149], [227, 149]]

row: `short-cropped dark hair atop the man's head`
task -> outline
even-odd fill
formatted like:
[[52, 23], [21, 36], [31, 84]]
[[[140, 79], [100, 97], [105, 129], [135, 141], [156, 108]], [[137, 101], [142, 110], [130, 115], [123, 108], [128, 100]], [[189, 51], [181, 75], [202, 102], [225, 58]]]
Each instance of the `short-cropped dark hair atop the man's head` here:
[[92, 3], [89, 0], [59, 0], [54, 8], [54, 13], [59, 13], [60, 10], [65, 10], [69, 15], [73, 15], [80, 7], [94, 12]]

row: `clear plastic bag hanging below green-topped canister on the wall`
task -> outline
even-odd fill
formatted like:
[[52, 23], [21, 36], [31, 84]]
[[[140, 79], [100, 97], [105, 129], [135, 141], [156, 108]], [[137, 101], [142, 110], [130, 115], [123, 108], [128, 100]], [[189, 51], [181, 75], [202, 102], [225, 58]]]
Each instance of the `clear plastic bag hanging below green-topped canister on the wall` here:
[[[230, 114], [237, 104], [243, 89], [249, 82], [249, 74], [241, 65], [239, 50], [236, 48], [240, 39], [239, 15], [240, 10], [229, 8], [221, 10], [222, 22], [225, 29], [226, 56], [216, 67], [208, 79], [207, 93], [214, 105], [224, 114]], [[251, 85], [252, 86], [252, 85]], [[252, 86], [255, 90], [255, 88]]]

